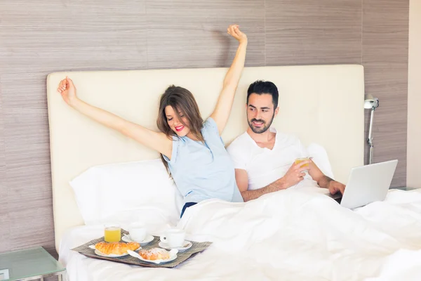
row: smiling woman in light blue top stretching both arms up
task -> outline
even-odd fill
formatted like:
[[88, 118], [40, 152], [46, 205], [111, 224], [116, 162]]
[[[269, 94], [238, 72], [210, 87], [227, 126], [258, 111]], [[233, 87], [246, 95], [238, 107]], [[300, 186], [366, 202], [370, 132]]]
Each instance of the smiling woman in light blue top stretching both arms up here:
[[210, 198], [243, 202], [220, 134], [227, 124], [243, 71], [247, 37], [238, 25], [229, 26], [228, 34], [239, 41], [239, 47], [225, 75], [215, 110], [205, 122], [192, 93], [178, 86], [168, 87], [161, 96], [156, 121], [161, 132], [156, 132], [79, 100], [69, 77], [58, 85], [62, 98], [75, 110], [161, 153], [184, 197], [181, 216], [187, 207]]

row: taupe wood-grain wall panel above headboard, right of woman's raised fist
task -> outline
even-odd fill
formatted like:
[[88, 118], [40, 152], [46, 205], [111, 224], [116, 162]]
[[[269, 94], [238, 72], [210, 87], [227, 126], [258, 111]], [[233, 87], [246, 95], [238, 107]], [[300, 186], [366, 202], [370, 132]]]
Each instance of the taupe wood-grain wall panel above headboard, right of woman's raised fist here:
[[266, 0], [267, 65], [361, 64], [361, 1]]

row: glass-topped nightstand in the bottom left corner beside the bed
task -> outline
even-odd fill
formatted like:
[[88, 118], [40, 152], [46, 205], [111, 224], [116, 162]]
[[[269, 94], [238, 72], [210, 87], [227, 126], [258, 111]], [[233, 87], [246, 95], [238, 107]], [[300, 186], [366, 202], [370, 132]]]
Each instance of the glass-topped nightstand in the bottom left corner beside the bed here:
[[55, 275], [65, 280], [66, 268], [42, 247], [0, 254], [0, 280], [44, 280]]

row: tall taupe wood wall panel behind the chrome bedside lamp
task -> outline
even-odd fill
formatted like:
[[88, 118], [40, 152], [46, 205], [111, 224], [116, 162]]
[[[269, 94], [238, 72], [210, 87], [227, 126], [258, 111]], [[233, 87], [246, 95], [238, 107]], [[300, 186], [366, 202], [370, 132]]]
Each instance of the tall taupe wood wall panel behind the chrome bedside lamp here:
[[363, 0], [366, 93], [380, 99], [374, 117], [373, 159], [399, 159], [393, 186], [406, 185], [408, 22], [409, 1]]

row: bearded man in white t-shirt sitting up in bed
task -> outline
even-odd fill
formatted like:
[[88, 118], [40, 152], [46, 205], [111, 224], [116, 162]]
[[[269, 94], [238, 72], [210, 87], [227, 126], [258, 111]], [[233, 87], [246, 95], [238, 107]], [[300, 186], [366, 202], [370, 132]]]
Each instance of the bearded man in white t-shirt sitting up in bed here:
[[279, 112], [278, 98], [278, 89], [272, 82], [251, 84], [246, 105], [248, 129], [227, 148], [243, 200], [253, 200], [300, 182], [306, 187], [328, 188], [331, 194], [343, 193], [345, 185], [325, 176], [312, 159], [295, 164], [295, 159], [306, 157], [307, 151], [298, 138], [271, 127]]

